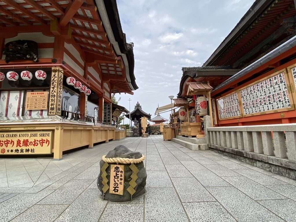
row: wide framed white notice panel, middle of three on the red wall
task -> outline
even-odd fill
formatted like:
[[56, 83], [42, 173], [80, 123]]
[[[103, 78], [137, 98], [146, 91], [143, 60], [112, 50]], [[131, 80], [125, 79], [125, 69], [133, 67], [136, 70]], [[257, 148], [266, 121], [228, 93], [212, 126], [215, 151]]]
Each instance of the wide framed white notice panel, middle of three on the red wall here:
[[243, 116], [294, 109], [289, 80], [284, 70], [239, 90]]

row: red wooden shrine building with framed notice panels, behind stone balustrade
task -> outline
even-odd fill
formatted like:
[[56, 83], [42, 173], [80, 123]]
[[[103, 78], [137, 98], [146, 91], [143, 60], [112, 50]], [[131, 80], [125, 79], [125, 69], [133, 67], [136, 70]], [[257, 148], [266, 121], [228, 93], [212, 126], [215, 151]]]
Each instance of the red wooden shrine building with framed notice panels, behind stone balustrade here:
[[256, 0], [202, 67], [182, 68], [178, 97], [213, 87], [215, 126], [296, 123], [295, 34], [295, 1]]

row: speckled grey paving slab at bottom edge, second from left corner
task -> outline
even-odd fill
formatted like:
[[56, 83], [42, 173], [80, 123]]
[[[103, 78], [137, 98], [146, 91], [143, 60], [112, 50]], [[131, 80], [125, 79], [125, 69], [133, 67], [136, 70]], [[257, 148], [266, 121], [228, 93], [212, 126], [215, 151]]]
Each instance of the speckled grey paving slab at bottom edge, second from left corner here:
[[10, 222], [52, 222], [68, 205], [33, 205]]

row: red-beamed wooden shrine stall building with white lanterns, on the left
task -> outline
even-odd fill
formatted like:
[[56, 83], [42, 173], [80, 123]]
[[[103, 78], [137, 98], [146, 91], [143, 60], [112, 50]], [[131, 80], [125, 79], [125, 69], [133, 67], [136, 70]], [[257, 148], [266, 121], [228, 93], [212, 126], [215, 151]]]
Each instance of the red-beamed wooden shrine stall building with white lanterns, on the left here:
[[116, 1], [1, 0], [0, 11], [0, 155], [60, 160], [123, 138], [111, 94], [138, 86]]

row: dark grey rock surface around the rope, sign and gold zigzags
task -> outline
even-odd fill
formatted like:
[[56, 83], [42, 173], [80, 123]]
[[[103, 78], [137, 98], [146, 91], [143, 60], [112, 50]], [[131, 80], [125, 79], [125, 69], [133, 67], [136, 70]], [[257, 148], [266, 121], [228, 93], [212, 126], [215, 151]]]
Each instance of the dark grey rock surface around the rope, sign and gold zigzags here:
[[[106, 155], [106, 158], [114, 158], [114, 157], [122, 157], [122, 158], [130, 158], [130, 159], [138, 159], [141, 158], [142, 154], [140, 152], [132, 152], [130, 149], [126, 148], [123, 145], [117, 146], [115, 147], [113, 150], [110, 150], [108, 152], [108, 154]], [[101, 160], [100, 161], [100, 168], [102, 168], [102, 166], [104, 165], [104, 161]], [[108, 179], [108, 186], [110, 187], [110, 167], [111, 164], [116, 164], [116, 163], [109, 163], [109, 167], [105, 170], [107, 173], [107, 179]], [[127, 188], [130, 186], [130, 184], [128, 184], [132, 178], [131, 175], [133, 173], [133, 171], [131, 170], [131, 168], [129, 168], [129, 166], [131, 164], [119, 164], [119, 165], [124, 165], [124, 191], [123, 191], [123, 195], [118, 195], [118, 194], [110, 194], [109, 193], [109, 189], [107, 190], [107, 192], [104, 194], [104, 199], [106, 200], [110, 200], [110, 201], [115, 201], [115, 202], [119, 202], [119, 201], [128, 201], [131, 200], [131, 194], [127, 191]], [[135, 164], [135, 166], [139, 169], [139, 172], [137, 173], [138, 179], [136, 180], [136, 186], [135, 186], [135, 193], [133, 194], [133, 198], [138, 197], [142, 194], [145, 194], [146, 189], [145, 189], [145, 185], [146, 185], [146, 178], [147, 178], [147, 173], [146, 173], [146, 169], [144, 167], [144, 163], [137, 163]], [[102, 172], [100, 171], [98, 180], [97, 180], [97, 185], [99, 190], [101, 191], [101, 193], [103, 194], [102, 191], [102, 176], [101, 176]]]

